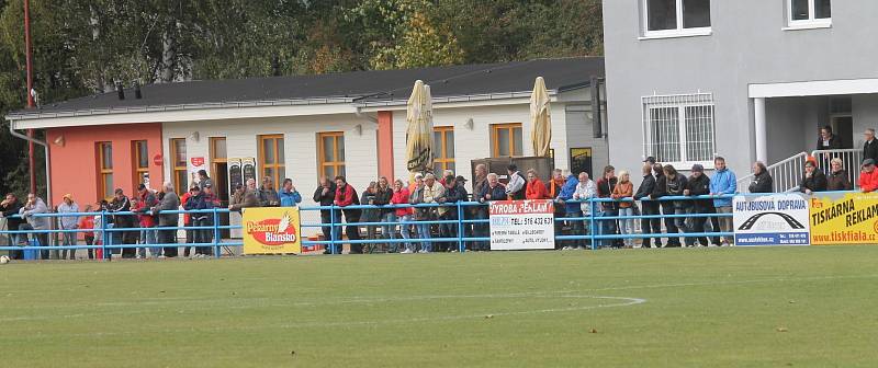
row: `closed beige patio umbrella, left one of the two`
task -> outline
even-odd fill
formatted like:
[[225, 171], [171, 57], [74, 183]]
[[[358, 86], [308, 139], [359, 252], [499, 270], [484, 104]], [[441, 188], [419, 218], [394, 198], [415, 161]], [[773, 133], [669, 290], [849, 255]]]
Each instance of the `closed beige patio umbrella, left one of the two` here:
[[430, 87], [416, 81], [406, 107], [406, 168], [413, 174], [432, 171], [431, 100]]

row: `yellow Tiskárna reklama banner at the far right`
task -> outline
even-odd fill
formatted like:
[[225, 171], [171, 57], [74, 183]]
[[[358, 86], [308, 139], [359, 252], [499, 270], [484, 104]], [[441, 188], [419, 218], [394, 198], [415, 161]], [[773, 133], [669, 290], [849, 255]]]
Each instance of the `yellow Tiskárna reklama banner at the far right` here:
[[814, 193], [811, 245], [878, 244], [877, 193]]

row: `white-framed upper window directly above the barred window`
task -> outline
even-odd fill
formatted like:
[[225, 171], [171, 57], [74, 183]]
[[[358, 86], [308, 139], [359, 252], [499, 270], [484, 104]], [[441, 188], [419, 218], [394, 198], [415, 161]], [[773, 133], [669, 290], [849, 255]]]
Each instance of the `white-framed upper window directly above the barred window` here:
[[710, 34], [710, 0], [644, 0], [646, 37]]

